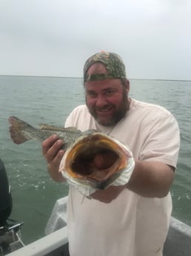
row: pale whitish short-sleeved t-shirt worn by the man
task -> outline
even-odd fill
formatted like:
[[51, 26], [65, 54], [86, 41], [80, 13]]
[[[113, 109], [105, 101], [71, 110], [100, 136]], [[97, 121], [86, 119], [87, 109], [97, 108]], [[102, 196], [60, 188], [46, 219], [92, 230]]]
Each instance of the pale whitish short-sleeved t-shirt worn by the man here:
[[[74, 109], [66, 127], [97, 129], [130, 146], [135, 160], [176, 166], [180, 145], [175, 118], [158, 105], [131, 99], [130, 110], [113, 127], [98, 125], [86, 105]], [[147, 198], [124, 189], [111, 203], [84, 198], [70, 186], [67, 227], [71, 256], [161, 256], [172, 200]]]

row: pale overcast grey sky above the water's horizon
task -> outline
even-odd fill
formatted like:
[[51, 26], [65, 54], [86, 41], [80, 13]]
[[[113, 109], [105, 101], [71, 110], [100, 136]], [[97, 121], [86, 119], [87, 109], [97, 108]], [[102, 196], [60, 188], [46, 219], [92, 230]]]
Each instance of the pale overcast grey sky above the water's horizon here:
[[100, 50], [130, 79], [191, 80], [191, 1], [0, 0], [0, 75], [82, 77]]

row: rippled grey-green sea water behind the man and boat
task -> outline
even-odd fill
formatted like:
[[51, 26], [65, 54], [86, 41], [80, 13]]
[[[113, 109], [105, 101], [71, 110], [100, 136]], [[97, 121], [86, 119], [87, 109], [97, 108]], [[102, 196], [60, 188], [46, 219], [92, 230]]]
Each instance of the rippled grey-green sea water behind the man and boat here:
[[[191, 82], [130, 80], [130, 96], [167, 108], [178, 120], [181, 151], [172, 185], [172, 216], [191, 226]], [[0, 76], [0, 157], [4, 161], [13, 196], [11, 218], [24, 221], [24, 243], [44, 236], [56, 200], [67, 195], [67, 183], [47, 174], [41, 144], [15, 145], [10, 139], [9, 116], [38, 123], [64, 125], [70, 111], [84, 104], [82, 79]]]

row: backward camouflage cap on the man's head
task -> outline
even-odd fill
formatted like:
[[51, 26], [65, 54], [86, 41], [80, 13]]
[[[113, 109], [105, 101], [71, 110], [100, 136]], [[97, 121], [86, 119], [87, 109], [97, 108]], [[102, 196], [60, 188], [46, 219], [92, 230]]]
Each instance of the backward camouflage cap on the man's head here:
[[[96, 62], [101, 62], [107, 68], [107, 73], [87, 74], [88, 68]], [[84, 65], [84, 82], [104, 79], [126, 78], [124, 62], [116, 53], [101, 51], [91, 56]]]

